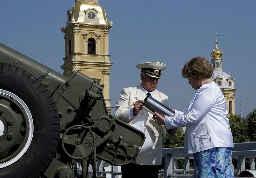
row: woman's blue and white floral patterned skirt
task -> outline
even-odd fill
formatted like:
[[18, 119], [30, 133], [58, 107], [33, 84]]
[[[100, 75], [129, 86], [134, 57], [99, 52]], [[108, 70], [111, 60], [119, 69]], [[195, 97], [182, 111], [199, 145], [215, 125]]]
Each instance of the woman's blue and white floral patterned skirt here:
[[198, 178], [233, 178], [233, 148], [212, 148], [194, 153]]

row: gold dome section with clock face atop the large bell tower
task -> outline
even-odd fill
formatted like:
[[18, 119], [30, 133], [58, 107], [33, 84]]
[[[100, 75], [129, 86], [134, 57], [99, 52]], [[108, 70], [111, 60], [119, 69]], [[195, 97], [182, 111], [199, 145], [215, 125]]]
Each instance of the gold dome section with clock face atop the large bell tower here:
[[95, 1], [77, 1], [69, 9], [67, 16], [67, 26], [73, 22], [108, 25], [105, 9]]

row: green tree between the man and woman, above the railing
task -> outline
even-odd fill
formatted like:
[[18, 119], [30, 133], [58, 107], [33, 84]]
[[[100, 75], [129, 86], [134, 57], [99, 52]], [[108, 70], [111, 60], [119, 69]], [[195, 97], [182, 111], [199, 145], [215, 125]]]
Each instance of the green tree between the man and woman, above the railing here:
[[176, 129], [176, 134], [173, 137], [162, 134], [163, 148], [175, 148], [184, 146], [185, 133], [182, 127]]

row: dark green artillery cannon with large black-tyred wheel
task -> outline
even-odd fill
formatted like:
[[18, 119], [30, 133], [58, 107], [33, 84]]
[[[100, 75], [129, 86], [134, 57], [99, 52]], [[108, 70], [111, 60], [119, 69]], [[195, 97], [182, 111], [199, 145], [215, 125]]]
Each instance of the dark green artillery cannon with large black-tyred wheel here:
[[85, 178], [89, 164], [96, 177], [98, 159], [135, 160], [145, 135], [108, 115], [103, 87], [0, 43], [0, 177]]

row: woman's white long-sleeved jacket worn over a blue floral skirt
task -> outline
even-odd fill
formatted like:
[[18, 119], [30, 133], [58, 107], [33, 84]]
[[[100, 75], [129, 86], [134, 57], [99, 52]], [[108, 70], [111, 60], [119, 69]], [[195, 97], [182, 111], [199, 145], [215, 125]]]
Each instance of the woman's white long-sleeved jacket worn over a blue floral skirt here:
[[227, 115], [224, 95], [211, 82], [200, 87], [186, 113], [176, 110], [174, 117], [166, 117], [165, 126], [167, 129], [186, 126], [184, 149], [189, 153], [234, 147]]

